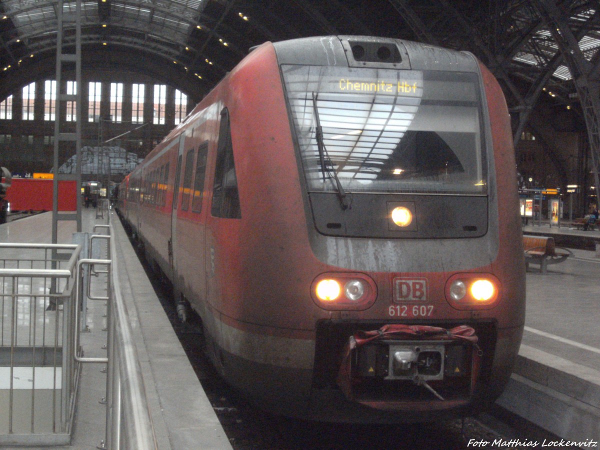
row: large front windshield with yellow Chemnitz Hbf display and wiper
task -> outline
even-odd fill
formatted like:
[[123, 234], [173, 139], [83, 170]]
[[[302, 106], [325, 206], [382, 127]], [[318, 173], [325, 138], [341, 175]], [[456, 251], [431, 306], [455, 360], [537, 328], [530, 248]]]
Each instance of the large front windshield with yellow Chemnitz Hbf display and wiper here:
[[281, 70], [310, 191], [487, 193], [475, 73]]

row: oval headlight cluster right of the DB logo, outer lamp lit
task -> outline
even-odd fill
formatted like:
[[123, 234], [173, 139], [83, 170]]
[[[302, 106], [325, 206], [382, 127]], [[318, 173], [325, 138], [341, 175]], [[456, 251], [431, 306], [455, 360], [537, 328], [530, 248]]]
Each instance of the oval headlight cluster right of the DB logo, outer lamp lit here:
[[491, 274], [455, 274], [446, 282], [446, 300], [459, 310], [493, 308], [500, 298], [500, 280]]

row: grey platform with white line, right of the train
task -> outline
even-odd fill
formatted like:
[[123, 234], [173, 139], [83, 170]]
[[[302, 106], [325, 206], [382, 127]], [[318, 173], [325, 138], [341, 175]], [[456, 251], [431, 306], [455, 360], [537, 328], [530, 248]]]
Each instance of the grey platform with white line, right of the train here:
[[[566, 440], [600, 442], [600, 231], [523, 227], [572, 256], [542, 273], [530, 265], [523, 340], [497, 403]], [[595, 445], [592, 445], [595, 446]], [[583, 448], [583, 447], [582, 447]]]

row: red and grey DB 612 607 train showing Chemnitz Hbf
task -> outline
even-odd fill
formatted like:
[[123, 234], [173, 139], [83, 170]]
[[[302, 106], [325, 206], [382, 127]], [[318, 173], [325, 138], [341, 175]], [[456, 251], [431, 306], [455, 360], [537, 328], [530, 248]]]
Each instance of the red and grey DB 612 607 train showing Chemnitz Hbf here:
[[525, 268], [505, 97], [468, 52], [336, 35], [254, 47], [117, 209], [260, 408], [402, 423], [485, 410]]

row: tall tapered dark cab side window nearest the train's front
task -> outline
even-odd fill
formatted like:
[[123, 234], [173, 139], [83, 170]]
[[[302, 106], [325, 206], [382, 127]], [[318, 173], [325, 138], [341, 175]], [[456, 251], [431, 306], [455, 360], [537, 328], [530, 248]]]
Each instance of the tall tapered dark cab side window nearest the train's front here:
[[233, 161], [233, 146], [229, 111], [221, 111], [219, 140], [217, 145], [217, 167], [215, 183], [212, 188], [212, 209], [214, 217], [239, 219], [242, 217], [239, 207], [238, 180]]

